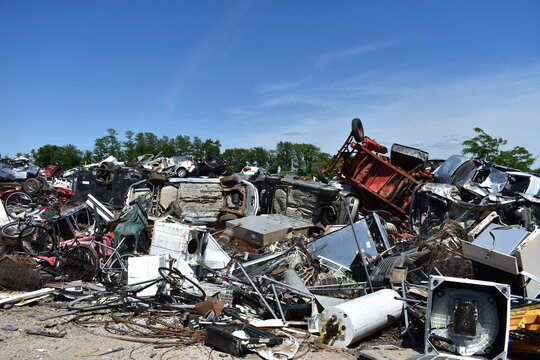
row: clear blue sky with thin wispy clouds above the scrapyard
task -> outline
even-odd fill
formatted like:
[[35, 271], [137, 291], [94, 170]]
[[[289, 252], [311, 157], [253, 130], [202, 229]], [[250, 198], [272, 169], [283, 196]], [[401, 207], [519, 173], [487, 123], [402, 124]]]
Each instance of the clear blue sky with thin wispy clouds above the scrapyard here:
[[[0, 153], [107, 128], [540, 155], [540, 1], [0, 0]], [[536, 164], [540, 162], [537, 161]]]

